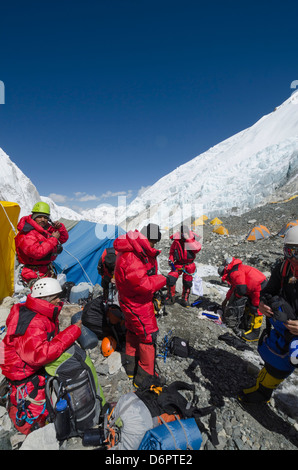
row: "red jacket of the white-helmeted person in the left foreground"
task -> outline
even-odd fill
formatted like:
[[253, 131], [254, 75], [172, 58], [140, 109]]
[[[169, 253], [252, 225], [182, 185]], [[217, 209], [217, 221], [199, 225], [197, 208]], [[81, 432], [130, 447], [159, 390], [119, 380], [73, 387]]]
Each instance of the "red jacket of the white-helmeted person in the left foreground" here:
[[15, 304], [6, 320], [7, 332], [0, 344], [0, 367], [10, 380], [22, 380], [57, 359], [80, 336], [71, 325], [59, 333], [62, 308], [28, 295], [25, 304]]

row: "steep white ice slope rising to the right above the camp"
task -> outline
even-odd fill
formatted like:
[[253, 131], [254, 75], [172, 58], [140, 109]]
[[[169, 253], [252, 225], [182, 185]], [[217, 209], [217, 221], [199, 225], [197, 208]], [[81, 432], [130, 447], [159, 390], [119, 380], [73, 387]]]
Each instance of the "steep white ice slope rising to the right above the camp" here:
[[[265, 204], [281, 188], [297, 192], [297, 174], [298, 98], [290, 97], [250, 128], [158, 180], [132, 201], [127, 217], [131, 225], [150, 219], [173, 226], [189, 217], [191, 206], [208, 217], [228, 215], [232, 209], [241, 214]], [[155, 208], [153, 214], [148, 207]]]

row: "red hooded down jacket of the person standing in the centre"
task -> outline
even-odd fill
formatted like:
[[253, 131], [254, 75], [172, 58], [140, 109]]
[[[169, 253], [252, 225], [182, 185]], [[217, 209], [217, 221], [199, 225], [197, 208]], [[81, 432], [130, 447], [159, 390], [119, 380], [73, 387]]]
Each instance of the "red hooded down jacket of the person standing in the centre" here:
[[165, 276], [157, 274], [156, 257], [160, 251], [151, 248], [147, 238], [137, 230], [117, 238], [114, 248], [118, 252], [115, 281], [125, 326], [146, 340], [158, 331], [153, 294], [166, 285]]

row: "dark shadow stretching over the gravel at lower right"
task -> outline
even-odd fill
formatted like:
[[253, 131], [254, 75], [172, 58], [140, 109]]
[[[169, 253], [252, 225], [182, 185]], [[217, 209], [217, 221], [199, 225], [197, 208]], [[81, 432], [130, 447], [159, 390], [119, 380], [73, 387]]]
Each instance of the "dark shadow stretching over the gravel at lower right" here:
[[[247, 363], [239, 356], [220, 348], [209, 348], [206, 351], [198, 351], [189, 348], [189, 355], [193, 362], [186, 369], [193, 383], [200, 383], [196, 375], [196, 368], [207, 379], [207, 389], [210, 393], [209, 404], [215, 408], [224, 406], [224, 397], [234, 398], [235, 406], [241, 406], [255, 420], [257, 420], [269, 432], [282, 434], [293, 445], [298, 447], [298, 435], [290, 423], [278, 416], [268, 405], [240, 405], [237, 395], [243, 388], [255, 384], [255, 379], [247, 373]], [[239, 377], [241, 379], [239, 380]]]

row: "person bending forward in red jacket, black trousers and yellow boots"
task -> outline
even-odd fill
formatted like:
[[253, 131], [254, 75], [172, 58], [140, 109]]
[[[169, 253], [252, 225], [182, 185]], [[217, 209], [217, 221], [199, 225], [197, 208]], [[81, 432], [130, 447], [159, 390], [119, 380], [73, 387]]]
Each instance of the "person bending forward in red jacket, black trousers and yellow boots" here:
[[266, 276], [233, 257], [225, 260], [218, 273], [230, 285], [222, 303], [224, 322], [245, 341], [258, 341], [263, 321], [258, 307]]

